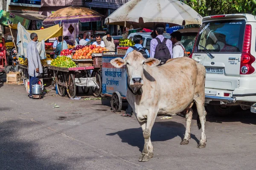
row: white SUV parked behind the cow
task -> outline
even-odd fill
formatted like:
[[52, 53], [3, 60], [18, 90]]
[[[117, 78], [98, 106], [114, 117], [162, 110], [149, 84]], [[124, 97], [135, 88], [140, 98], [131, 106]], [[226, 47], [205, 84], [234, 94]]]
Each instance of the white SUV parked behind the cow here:
[[204, 17], [192, 55], [205, 66], [205, 103], [215, 115], [235, 106], [256, 113], [256, 17], [225, 14]]

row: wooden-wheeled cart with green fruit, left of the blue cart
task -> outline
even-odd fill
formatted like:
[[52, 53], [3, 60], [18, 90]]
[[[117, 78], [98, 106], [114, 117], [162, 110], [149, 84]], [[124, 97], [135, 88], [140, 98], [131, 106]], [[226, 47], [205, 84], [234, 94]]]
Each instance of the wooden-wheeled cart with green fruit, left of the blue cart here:
[[[64, 60], [71, 63], [69, 62], [71, 59], [67, 58]], [[80, 86], [84, 94], [87, 94], [90, 91], [90, 87], [92, 87], [93, 96], [100, 96], [102, 88], [100, 77], [100, 69], [102, 67], [101, 56], [94, 56], [93, 59], [73, 59], [72, 62], [74, 63], [69, 64], [70, 68], [66, 68], [67, 65], [59, 65], [61, 59], [57, 57], [49, 66], [49, 69], [53, 71], [58, 94], [64, 96], [65, 90], [67, 90], [68, 96], [74, 98], [77, 87]]]

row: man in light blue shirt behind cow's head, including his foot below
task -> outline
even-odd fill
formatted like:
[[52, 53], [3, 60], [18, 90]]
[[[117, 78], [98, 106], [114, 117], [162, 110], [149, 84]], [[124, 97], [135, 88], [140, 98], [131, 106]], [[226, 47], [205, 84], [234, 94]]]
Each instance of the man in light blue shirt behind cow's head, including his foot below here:
[[[143, 37], [141, 35], [134, 35], [134, 38], [133, 38], [133, 41], [135, 42], [134, 47], [136, 47], [138, 50], [143, 49], [142, 38]], [[129, 54], [132, 51], [134, 51], [133, 47], [128, 48], [126, 51], [125, 57], [127, 56], [127, 54]], [[146, 53], [147, 57], [149, 58], [150, 55], [149, 55], [149, 52], [147, 49], [145, 49], [145, 53]], [[124, 57], [124, 59], [125, 59], [125, 57]], [[131, 105], [129, 105], [129, 103], [128, 103], [128, 108], [126, 109], [125, 113], [123, 113], [121, 116], [131, 117], [131, 115], [132, 115], [132, 108], [131, 108]]]

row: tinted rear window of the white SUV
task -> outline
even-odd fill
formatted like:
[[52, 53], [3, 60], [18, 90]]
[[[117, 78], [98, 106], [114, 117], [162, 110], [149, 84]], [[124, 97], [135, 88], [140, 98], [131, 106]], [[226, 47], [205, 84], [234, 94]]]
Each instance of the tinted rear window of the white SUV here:
[[203, 23], [198, 33], [195, 52], [204, 52], [204, 47], [213, 53], [241, 52], [244, 29], [245, 20], [222, 20]]

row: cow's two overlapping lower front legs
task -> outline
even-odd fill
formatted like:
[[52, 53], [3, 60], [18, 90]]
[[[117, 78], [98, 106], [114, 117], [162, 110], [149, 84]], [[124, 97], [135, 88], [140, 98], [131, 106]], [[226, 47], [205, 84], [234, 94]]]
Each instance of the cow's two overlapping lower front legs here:
[[145, 130], [143, 131], [143, 137], [144, 137], [144, 148], [142, 151], [142, 154], [139, 158], [139, 161], [148, 161], [149, 158], [153, 157], [153, 145], [150, 140], [151, 136], [151, 130], [154, 125], [155, 119], [156, 119], [156, 112], [148, 113], [148, 118], [146, 122]]

